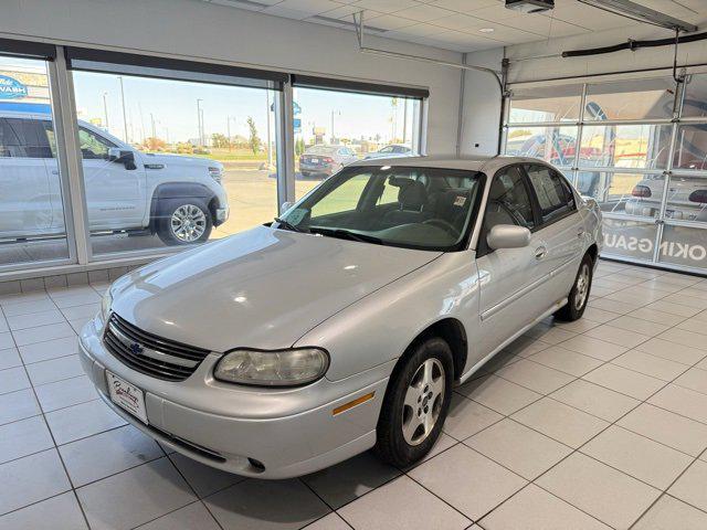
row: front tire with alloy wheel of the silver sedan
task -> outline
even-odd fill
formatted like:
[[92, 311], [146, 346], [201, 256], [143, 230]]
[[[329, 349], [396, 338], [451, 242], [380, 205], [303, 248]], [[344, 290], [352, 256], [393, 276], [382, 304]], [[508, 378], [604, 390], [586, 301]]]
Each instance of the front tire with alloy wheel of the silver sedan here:
[[393, 370], [378, 418], [373, 452], [381, 460], [408, 467], [430, 452], [450, 410], [453, 374], [452, 350], [441, 338], [408, 351]]

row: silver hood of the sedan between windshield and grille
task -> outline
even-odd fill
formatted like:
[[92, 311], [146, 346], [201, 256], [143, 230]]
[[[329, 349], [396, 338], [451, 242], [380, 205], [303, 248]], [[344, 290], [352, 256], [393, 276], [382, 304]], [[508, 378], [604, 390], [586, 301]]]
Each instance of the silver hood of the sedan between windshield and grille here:
[[212, 351], [287, 348], [440, 255], [257, 226], [124, 276], [113, 308], [145, 331]]

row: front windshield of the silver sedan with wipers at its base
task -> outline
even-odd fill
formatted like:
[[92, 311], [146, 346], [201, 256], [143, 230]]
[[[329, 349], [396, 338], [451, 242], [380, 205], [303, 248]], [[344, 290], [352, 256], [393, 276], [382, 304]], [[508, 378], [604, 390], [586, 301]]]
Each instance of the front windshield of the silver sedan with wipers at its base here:
[[437, 168], [347, 168], [287, 210], [278, 227], [382, 245], [456, 250], [471, 230], [482, 174]]

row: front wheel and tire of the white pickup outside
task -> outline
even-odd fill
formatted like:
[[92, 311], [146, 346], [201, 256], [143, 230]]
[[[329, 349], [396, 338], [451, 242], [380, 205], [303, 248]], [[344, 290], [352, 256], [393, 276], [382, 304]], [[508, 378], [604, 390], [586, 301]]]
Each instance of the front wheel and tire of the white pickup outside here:
[[202, 199], [167, 199], [160, 201], [157, 211], [157, 236], [166, 245], [203, 243], [211, 235], [213, 219]]

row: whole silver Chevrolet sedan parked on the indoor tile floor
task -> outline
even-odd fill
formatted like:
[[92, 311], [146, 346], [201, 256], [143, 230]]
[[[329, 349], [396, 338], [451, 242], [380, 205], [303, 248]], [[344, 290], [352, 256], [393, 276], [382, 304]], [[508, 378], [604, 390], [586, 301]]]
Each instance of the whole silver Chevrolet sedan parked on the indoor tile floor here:
[[203, 464], [285, 478], [373, 447], [404, 467], [454, 385], [582, 316], [601, 242], [597, 203], [542, 161], [360, 161], [116, 280], [80, 358], [115, 412]]

